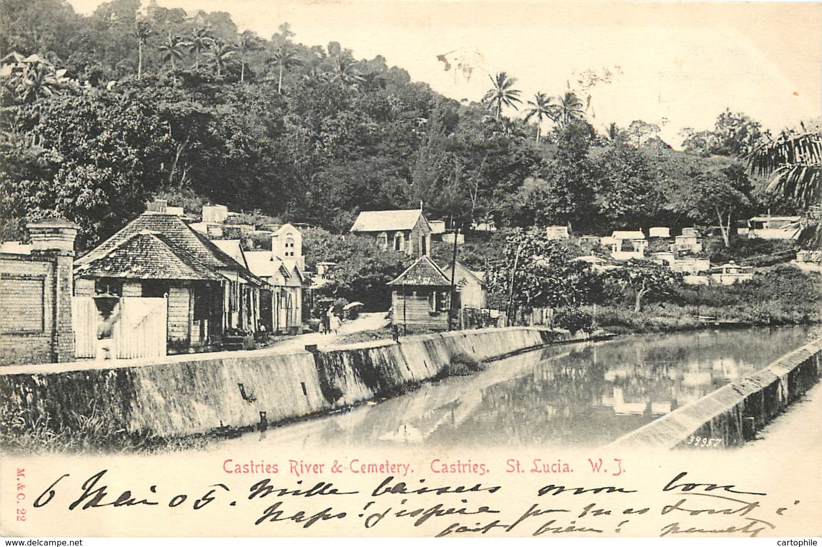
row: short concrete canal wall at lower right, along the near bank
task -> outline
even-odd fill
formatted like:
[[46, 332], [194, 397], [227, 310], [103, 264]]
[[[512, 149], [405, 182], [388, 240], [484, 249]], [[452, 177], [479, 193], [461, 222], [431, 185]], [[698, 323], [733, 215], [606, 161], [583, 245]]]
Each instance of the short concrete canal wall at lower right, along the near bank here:
[[[740, 446], [820, 379], [822, 341], [806, 344], [755, 375], [724, 385], [677, 408], [609, 448], [720, 448]], [[699, 439], [697, 439], [699, 438]], [[703, 439], [707, 439], [703, 441]]]

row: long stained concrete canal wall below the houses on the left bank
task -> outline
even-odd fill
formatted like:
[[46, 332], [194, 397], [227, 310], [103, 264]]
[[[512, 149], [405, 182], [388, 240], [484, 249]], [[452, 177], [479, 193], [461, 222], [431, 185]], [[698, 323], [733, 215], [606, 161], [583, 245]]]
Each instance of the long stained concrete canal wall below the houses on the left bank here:
[[482, 329], [276, 353], [173, 356], [160, 362], [89, 361], [0, 369], [8, 416], [76, 428], [86, 418], [131, 434], [173, 437], [242, 428], [389, 397], [431, 379], [465, 353], [489, 360], [587, 337], [533, 328]]

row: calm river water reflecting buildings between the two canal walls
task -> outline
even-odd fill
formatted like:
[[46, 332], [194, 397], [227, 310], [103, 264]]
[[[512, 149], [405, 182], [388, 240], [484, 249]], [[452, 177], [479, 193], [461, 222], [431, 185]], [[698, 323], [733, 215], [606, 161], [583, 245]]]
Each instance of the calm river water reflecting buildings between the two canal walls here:
[[607, 444], [801, 347], [809, 329], [703, 330], [547, 347], [468, 377], [228, 444], [321, 448]]

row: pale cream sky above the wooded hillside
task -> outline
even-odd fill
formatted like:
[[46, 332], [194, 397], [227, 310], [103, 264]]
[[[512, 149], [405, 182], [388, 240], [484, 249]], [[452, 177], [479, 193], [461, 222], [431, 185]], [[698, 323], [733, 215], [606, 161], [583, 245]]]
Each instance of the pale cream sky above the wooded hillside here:
[[[69, 0], [90, 13], [99, 0]], [[145, 0], [144, 0], [145, 2]], [[633, 120], [713, 128], [726, 108], [774, 132], [822, 113], [822, 4], [550, 0], [157, 0], [189, 13], [227, 11], [270, 38], [288, 22], [308, 46], [339, 42], [382, 55], [453, 99], [478, 101], [489, 76], [517, 79], [523, 101], [571, 89], [602, 130]], [[579, 75], [599, 76], [593, 86]], [[610, 75], [610, 76], [607, 76]], [[607, 76], [607, 77], [604, 77]], [[584, 89], [583, 89], [584, 88]], [[520, 111], [527, 108], [521, 106]], [[506, 112], [516, 115], [514, 111]]]

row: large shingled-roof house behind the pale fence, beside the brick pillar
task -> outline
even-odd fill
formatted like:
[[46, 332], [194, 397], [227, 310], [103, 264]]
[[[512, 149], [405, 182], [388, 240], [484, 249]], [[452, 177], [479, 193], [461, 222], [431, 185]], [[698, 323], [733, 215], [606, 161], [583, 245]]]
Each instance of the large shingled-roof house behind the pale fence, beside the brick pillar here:
[[265, 284], [178, 214], [150, 211], [76, 260], [74, 279], [75, 296], [166, 296], [169, 346], [180, 350], [255, 330]]

